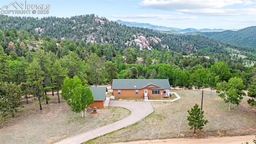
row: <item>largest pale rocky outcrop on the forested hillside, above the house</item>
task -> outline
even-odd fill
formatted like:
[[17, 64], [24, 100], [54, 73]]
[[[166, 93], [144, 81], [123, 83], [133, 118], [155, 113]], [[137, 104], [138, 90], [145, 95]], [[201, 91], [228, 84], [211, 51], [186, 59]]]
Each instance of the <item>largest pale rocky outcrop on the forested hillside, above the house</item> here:
[[[134, 36], [134, 40], [131, 41], [127, 41], [125, 43], [126, 46], [132, 46], [134, 43], [136, 44], [136, 46], [138, 46], [140, 48], [140, 50], [143, 50], [144, 48], [148, 48], [148, 50], [154, 50], [153, 46], [154, 44], [158, 44], [161, 43], [162, 40], [156, 36], [154, 37], [148, 37], [145, 38], [144, 36]], [[166, 48], [169, 50], [169, 46], [167, 46], [166, 44], [161, 44], [162, 48]]]

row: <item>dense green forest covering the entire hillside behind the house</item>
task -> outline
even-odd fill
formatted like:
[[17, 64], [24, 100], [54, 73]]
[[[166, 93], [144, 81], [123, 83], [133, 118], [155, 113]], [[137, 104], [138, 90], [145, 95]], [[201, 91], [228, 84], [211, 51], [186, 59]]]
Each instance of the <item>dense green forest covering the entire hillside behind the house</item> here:
[[[169, 49], [159, 43], [152, 44], [153, 50], [127, 46], [133, 35], [157, 36]], [[94, 15], [42, 19], [1, 15], [0, 113], [14, 116], [22, 96], [28, 103], [30, 95], [38, 98], [42, 110], [41, 103], [49, 100], [46, 92], [59, 91], [64, 78], [75, 76], [96, 86], [111, 84], [114, 78], [168, 78], [173, 88], [211, 90], [239, 78], [253, 91], [256, 65], [244, 66], [254, 61], [231, 55], [238, 48], [205, 36], [122, 26]], [[255, 95], [250, 96], [254, 102]]]

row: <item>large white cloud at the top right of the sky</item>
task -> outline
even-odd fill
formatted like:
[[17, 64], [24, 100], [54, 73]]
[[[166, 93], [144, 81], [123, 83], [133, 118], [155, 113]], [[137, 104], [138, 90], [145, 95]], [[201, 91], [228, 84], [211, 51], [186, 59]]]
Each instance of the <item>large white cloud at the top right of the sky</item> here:
[[207, 16], [253, 15], [256, 12], [256, 4], [251, 0], [143, 0], [139, 5], [142, 8]]

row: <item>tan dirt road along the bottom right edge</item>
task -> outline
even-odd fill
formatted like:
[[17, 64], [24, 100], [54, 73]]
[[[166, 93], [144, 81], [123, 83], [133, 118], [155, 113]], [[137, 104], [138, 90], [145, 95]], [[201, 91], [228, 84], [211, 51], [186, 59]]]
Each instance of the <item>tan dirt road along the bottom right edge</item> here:
[[250, 136], [232, 136], [219, 138], [202, 138], [202, 139], [186, 139], [186, 138], [171, 138], [163, 140], [141, 140], [133, 142], [118, 142], [111, 144], [253, 144], [255, 135]]

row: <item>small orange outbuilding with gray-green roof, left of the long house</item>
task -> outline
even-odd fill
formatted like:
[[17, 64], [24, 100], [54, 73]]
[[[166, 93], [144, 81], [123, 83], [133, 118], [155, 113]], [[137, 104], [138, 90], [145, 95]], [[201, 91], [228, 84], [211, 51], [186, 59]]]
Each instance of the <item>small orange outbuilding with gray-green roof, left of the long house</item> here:
[[106, 92], [108, 92], [107, 87], [89, 87], [92, 91], [92, 96], [94, 101], [90, 104], [90, 108], [96, 106], [97, 108], [104, 108], [104, 102], [106, 100]]

